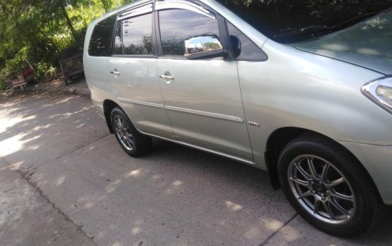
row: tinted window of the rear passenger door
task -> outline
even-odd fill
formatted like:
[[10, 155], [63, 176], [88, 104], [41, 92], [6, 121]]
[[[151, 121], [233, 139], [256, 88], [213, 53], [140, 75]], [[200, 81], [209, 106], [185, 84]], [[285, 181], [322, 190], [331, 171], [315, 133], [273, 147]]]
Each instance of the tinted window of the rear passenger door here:
[[121, 21], [124, 54], [153, 54], [152, 14]]

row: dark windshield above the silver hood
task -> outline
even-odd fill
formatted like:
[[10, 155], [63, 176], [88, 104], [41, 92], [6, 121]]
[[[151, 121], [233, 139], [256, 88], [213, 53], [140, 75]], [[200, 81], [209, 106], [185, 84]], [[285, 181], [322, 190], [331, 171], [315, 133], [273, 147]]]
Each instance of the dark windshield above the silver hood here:
[[217, 0], [280, 43], [341, 30], [392, 7], [392, 0]]

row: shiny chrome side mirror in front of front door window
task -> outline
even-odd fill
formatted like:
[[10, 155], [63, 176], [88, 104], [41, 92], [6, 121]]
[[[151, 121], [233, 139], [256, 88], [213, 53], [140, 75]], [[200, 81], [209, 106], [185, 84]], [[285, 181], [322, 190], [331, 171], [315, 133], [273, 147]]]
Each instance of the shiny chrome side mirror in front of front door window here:
[[187, 59], [206, 59], [223, 57], [224, 50], [215, 34], [204, 34], [185, 39], [185, 57]]

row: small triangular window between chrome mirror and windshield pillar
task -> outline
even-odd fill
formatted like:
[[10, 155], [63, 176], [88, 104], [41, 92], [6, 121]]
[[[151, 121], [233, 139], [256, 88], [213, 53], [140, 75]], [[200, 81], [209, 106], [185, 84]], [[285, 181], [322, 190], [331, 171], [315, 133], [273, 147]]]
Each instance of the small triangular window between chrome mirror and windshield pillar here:
[[[232, 23], [227, 22], [228, 34], [235, 58], [240, 61], [265, 61], [266, 54]], [[240, 46], [240, 50], [236, 50]]]

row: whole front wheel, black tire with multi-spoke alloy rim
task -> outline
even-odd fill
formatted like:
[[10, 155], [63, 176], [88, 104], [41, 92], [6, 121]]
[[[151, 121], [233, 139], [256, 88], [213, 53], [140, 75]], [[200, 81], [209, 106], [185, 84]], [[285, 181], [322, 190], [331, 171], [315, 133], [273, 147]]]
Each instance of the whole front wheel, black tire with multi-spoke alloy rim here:
[[[323, 170], [327, 170], [324, 178]], [[384, 214], [385, 205], [364, 167], [344, 147], [324, 136], [304, 134], [288, 143], [279, 157], [278, 174], [284, 194], [297, 213], [328, 234], [357, 236], [377, 224]], [[342, 181], [340, 185], [330, 187], [338, 180]], [[348, 201], [336, 198], [342, 193]], [[338, 210], [336, 204], [343, 210]]]

